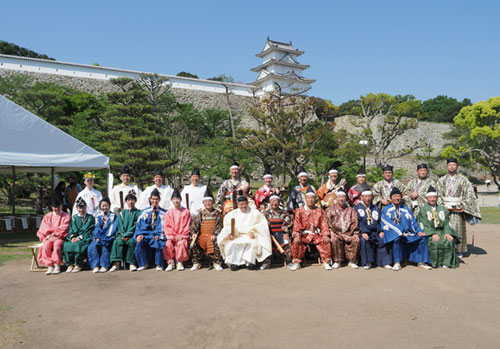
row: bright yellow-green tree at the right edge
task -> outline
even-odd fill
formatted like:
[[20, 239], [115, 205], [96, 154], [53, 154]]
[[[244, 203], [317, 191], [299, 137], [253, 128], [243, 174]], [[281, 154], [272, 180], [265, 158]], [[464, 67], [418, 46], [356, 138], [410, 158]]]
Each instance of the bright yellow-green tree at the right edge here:
[[455, 125], [466, 131], [442, 156], [474, 155], [474, 160], [491, 173], [500, 187], [500, 97], [492, 97], [463, 107], [454, 118]]

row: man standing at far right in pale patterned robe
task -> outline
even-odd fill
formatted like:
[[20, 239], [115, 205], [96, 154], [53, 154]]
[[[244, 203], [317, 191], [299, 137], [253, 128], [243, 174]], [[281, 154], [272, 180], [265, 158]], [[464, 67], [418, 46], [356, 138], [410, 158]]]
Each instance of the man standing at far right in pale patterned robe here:
[[450, 211], [450, 225], [460, 240], [457, 246], [458, 258], [463, 258], [467, 253], [466, 218], [469, 223], [476, 224], [481, 219], [481, 212], [471, 183], [458, 173], [458, 160], [448, 159], [446, 169], [448, 174], [438, 182], [439, 202]]

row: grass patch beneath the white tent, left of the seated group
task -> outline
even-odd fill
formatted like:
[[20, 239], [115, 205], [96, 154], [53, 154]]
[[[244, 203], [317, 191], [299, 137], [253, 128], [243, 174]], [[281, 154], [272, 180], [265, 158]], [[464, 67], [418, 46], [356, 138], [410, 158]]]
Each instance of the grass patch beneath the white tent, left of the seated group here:
[[12, 260], [30, 259], [32, 254], [28, 246], [37, 243], [34, 231], [0, 234], [0, 266]]

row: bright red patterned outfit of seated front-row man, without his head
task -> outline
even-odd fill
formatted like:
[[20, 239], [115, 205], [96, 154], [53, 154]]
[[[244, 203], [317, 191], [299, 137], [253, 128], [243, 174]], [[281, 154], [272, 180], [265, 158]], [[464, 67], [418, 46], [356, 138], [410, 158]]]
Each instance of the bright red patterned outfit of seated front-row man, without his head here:
[[294, 263], [302, 262], [307, 245], [311, 243], [316, 245], [321, 260], [329, 262], [331, 260], [331, 246], [330, 243], [323, 242], [323, 237], [329, 235], [326, 214], [323, 209], [320, 207], [309, 209], [307, 206], [299, 208], [295, 213], [293, 223], [292, 257]]

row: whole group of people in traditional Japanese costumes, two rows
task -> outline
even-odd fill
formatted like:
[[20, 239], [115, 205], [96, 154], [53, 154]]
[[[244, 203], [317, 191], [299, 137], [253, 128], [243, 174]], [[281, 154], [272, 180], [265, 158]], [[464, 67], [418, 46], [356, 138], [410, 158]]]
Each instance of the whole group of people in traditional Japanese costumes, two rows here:
[[456, 268], [467, 252], [465, 223], [475, 224], [481, 216], [457, 159], [447, 160], [447, 170], [435, 181], [427, 165], [419, 164], [416, 177], [403, 185], [385, 166], [384, 179], [370, 188], [360, 168], [357, 183], [347, 190], [332, 168], [316, 190], [301, 167], [286, 202], [269, 169], [253, 195], [236, 163], [216, 199], [200, 183], [198, 169], [182, 193], [164, 184], [160, 170], [141, 192], [123, 166], [121, 184], [104, 198], [88, 173], [72, 216], [62, 211], [58, 196], [52, 198], [52, 212], [37, 232], [38, 258], [48, 275], [60, 273], [63, 265], [76, 273], [86, 264], [94, 273], [149, 266], [181, 271], [189, 260], [191, 270], [205, 260], [217, 271], [224, 265], [255, 270], [269, 268], [273, 257], [296, 271], [306, 253], [318, 255], [326, 270], [347, 264], [398, 271], [407, 261], [428, 270]]

